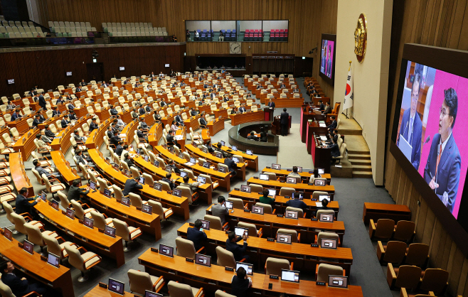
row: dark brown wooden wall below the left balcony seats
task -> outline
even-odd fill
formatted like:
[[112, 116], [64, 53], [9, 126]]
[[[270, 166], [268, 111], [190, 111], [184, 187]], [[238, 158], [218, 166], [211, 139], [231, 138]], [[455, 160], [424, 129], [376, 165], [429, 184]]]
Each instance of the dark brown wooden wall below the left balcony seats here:
[[[0, 95], [11, 97], [23, 95], [26, 90], [38, 85], [44, 90], [55, 90], [58, 85], [77, 84], [87, 79], [86, 64], [92, 63], [92, 50], [97, 50], [97, 62], [103, 63], [105, 80], [110, 77], [149, 75], [151, 71], [170, 72], [164, 63], [174, 71], [184, 68], [186, 45], [156, 45], [112, 48], [73, 48], [66, 50], [36, 50], [0, 54]], [[124, 66], [125, 71], [119, 71]], [[65, 72], [71, 71], [71, 77]], [[6, 80], [14, 78], [14, 85]]]

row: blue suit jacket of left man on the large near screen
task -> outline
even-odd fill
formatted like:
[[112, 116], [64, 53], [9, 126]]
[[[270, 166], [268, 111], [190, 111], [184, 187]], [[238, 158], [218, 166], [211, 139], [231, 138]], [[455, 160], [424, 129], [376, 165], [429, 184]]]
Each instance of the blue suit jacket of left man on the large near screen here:
[[[411, 110], [410, 108], [406, 109], [403, 112], [403, 118], [401, 119], [401, 126], [400, 132], [398, 134], [398, 141], [397, 146], [400, 144], [400, 137], [403, 135], [406, 141], [409, 139], [409, 131], [410, 131], [410, 115]], [[411, 136], [411, 163], [413, 167], [418, 170], [420, 158], [421, 158], [421, 137], [422, 137], [422, 121], [419, 117], [419, 114], [415, 114], [415, 121], [413, 122], [413, 136]]]

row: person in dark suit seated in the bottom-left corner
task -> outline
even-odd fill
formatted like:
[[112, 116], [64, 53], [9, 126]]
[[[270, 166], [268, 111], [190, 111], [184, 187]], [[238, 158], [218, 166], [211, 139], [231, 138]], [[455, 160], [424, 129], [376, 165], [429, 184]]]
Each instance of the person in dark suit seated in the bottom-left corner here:
[[11, 261], [4, 262], [0, 267], [1, 281], [11, 288], [11, 293], [13, 293], [14, 296], [26, 296], [31, 292], [36, 292], [44, 297], [62, 296], [58, 291], [55, 291], [53, 288], [48, 288], [41, 283], [29, 284], [26, 277], [20, 279], [14, 274], [15, 266]]

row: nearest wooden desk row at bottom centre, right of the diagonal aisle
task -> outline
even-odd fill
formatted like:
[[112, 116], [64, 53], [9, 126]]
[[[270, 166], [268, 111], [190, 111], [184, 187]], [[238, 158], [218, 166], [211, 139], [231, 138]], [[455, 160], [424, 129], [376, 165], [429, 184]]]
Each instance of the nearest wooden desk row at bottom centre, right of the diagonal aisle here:
[[[139, 264], [144, 266], [145, 271], [154, 276], [164, 276], [166, 281], [179, 281], [195, 288], [202, 288], [203, 291], [211, 295], [216, 290], [230, 293], [231, 280], [235, 275], [233, 271], [226, 271], [223, 266], [211, 265], [202, 266], [186, 261], [184, 257], [174, 256], [174, 258], [163, 256], [148, 249], [140, 257]], [[254, 295], [280, 296], [287, 293], [287, 296], [363, 296], [360, 286], [349, 286], [348, 288], [331, 288], [329, 286], [317, 286], [314, 281], [300, 281], [299, 284], [270, 279], [265, 274], [254, 273], [250, 276]], [[269, 289], [268, 285], [272, 284]]]

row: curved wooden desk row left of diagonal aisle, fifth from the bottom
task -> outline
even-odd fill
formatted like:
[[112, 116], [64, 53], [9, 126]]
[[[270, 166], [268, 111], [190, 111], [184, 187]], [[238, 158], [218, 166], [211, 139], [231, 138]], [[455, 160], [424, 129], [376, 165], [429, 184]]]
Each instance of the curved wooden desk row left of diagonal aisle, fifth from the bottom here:
[[[144, 161], [144, 158], [141, 156], [136, 156], [133, 158], [133, 161], [137, 163], [137, 165], [142, 168], [142, 171], [144, 173], [148, 173], [149, 175], [152, 176], [153, 180], [161, 180], [162, 178], [166, 177], [167, 171], [163, 170], [161, 167], [156, 167], [153, 164]], [[184, 180], [180, 177], [180, 175], [177, 175], [176, 173], [172, 173], [171, 178], [174, 179], [174, 183], [176, 185], [179, 185], [182, 183]], [[189, 179], [188, 183], [195, 183], [196, 180]], [[206, 183], [204, 185], [198, 185], [197, 188], [197, 193], [198, 196], [201, 200], [206, 200], [208, 205], [211, 205], [211, 200], [212, 200], [212, 195], [213, 195], [213, 185], [211, 183]]]

